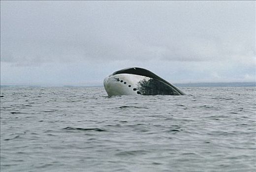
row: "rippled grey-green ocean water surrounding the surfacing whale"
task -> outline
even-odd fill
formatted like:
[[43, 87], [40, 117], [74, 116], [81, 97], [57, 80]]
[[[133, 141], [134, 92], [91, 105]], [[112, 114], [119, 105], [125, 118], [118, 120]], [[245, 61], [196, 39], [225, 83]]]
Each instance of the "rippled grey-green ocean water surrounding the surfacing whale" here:
[[255, 172], [256, 87], [1, 87], [1, 172]]

